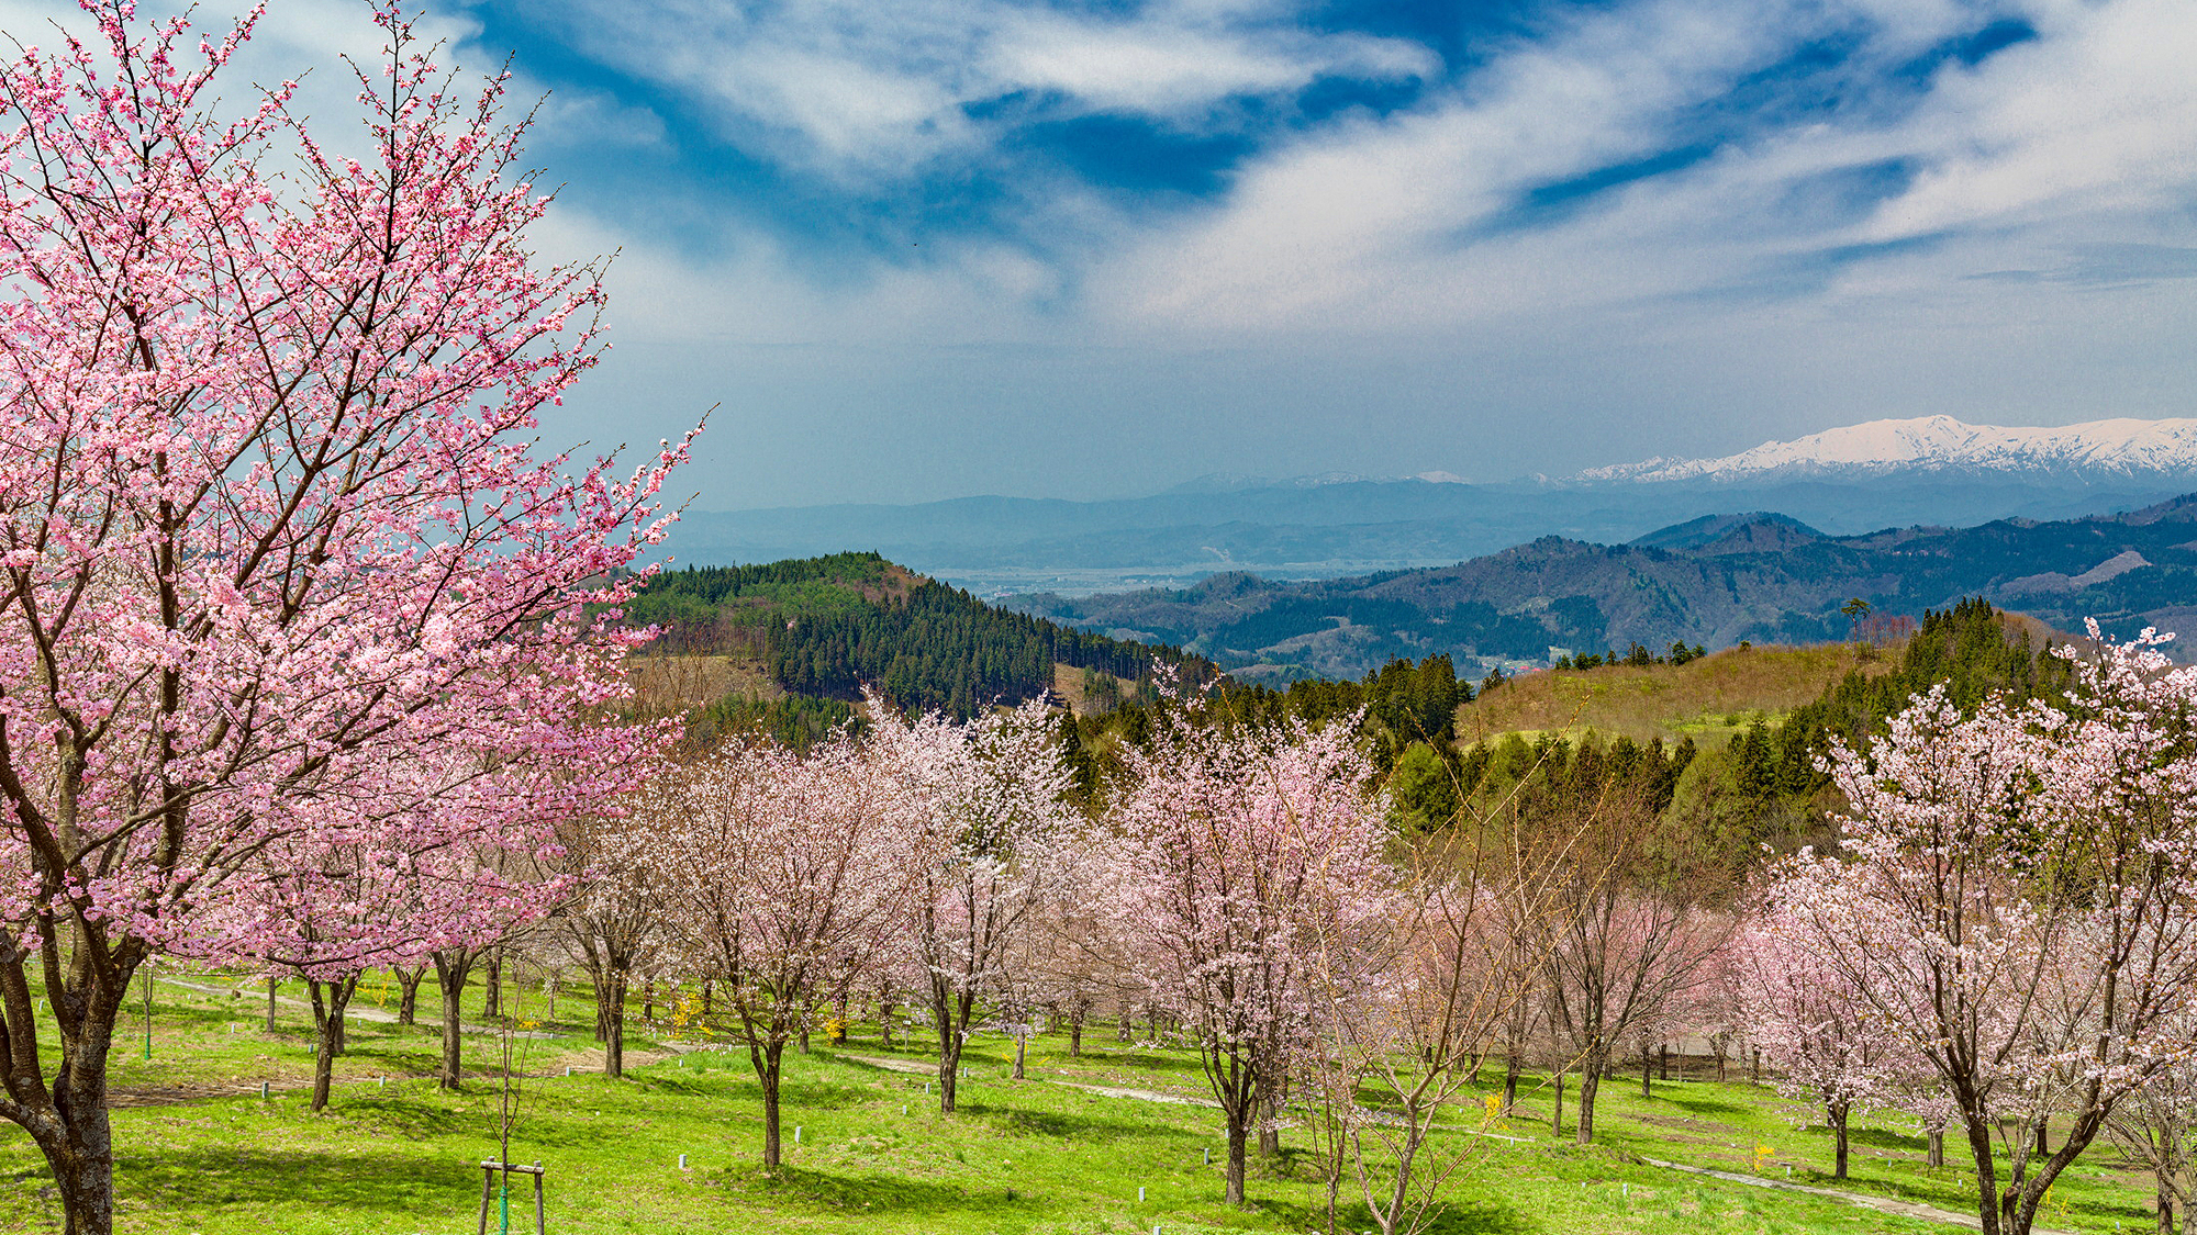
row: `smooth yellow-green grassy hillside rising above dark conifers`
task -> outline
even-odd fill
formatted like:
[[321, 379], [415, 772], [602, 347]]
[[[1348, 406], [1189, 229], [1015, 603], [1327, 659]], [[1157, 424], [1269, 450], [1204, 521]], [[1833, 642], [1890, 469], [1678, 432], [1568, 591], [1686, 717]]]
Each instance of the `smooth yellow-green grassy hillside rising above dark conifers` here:
[[1457, 738], [1580, 732], [1637, 743], [1722, 745], [1755, 721], [1813, 703], [1850, 670], [1883, 672], [1896, 653], [1854, 644], [1727, 648], [1670, 666], [1527, 672], [1457, 708]]

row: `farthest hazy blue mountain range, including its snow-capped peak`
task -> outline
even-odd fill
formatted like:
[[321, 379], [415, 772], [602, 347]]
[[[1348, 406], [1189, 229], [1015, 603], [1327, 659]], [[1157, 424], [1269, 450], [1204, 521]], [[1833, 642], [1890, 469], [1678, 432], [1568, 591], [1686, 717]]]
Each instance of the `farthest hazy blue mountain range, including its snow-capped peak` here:
[[[1215, 571], [1345, 578], [1450, 565], [1542, 536], [1626, 543], [1736, 510], [1828, 536], [2138, 510], [2197, 490], [2197, 420], [1995, 429], [1878, 420], [1725, 459], [1463, 483], [1228, 472], [1116, 501], [969, 497], [688, 512], [668, 552], [732, 565], [877, 549], [978, 596], [1182, 587]], [[703, 494], [696, 505], [705, 505]]]

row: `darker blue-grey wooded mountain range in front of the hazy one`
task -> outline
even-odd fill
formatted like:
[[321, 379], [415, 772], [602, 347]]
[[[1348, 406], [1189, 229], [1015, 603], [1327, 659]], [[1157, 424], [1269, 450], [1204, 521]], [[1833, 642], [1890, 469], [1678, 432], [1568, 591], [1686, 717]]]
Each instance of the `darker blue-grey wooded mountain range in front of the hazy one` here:
[[1307, 582], [1222, 574], [1189, 589], [1011, 604], [1178, 644], [1239, 677], [1290, 679], [1356, 677], [1432, 653], [1485, 670], [1635, 642], [1661, 653], [1672, 642], [1841, 639], [1852, 598], [1920, 618], [1964, 596], [2070, 633], [2098, 618], [2120, 637], [2142, 626], [2197, 637], [2197, 494], [2087, 519], [1861, 536], [1828, 536], [1786, 514], [1720, 514], [1628, 545], [1542, 536], [1439, 569]]

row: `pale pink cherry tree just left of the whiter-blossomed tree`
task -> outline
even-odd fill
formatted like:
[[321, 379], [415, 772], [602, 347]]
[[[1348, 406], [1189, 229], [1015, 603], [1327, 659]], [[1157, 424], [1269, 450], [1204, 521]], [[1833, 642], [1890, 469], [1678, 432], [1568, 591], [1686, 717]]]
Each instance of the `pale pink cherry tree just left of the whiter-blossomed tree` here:
[[714, 982], [710, 1017], [747, 1046], [762, 1086], [765, 1169], [780, 1162], [787, 1046], [910, 930], [914, 811], [901, 791], [841, 732], [806, 756], [723, 747], [633, 802], [681, 960]]

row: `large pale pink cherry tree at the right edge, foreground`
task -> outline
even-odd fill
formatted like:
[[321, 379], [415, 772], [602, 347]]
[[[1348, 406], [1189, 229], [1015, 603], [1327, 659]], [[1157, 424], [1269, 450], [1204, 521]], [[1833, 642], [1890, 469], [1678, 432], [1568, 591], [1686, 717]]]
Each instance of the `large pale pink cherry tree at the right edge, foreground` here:
[[[2076, 661], [2067, 710], [1918, 699], [1837, 749], [1843, 857], [1780, 868], [1773, 912], [1936, 1072], [1986, 1235], [2168, 1075], [2197, 987], [2197, 670], [2146, 633]], [[2041, 1147], [2048, 1119], [2065, 1132]], [[1993, 1136], [2006, 1134], [2006, 1173]]]

